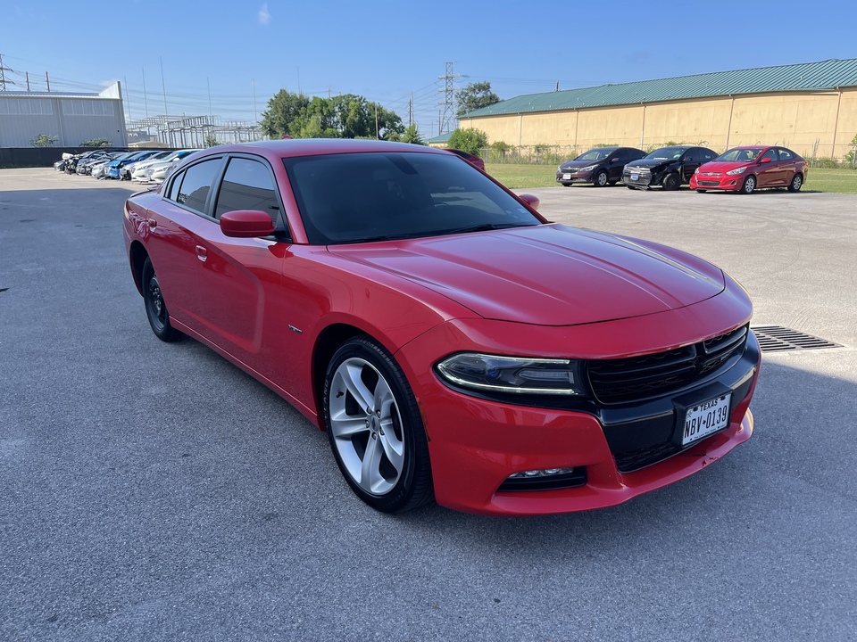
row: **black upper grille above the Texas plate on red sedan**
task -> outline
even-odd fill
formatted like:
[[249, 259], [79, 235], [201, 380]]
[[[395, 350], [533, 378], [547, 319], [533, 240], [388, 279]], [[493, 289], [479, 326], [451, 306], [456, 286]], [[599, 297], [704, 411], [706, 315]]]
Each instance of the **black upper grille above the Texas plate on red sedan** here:
[[595, 398], [601, 403], [651, 399], [697, 383], [730, 358], [744, 352], [747, 327], [742, 326], [676, 350], [621, 359], [589, 361], [587, 372]]

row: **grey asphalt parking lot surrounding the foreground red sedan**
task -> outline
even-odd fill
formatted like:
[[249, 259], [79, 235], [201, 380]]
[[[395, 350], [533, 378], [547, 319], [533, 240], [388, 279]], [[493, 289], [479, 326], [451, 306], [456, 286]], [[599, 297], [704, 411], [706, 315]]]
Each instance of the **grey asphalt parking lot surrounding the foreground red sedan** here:
[[[855, 178], [857, 179], [857, 178]], [[118, 183], [0, 170], [0, 639], [857, 639], [857, 196], [524, 190], [751, 292], [753, 439], [611, 509], [373, 512], [327, 438], [158, 341]]]

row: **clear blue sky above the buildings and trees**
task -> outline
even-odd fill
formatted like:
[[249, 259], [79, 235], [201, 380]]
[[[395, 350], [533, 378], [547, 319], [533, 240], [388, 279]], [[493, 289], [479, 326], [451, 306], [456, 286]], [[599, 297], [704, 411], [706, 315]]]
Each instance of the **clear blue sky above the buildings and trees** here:
[[26, 89], [25, 72], [34, 91], [46, 72], [52, 91], [121, 80], [131, 119], [162, 114], [165, 93], [171, 115], [254, 120], [285, 88], [364, 95], [407, 123], [413, 95], [423, 136], [437, 134], [446, 62], [456, 86], [511, 98], [857, 57], [857, 0], [6, 0], [2, 15], [8, 89]]

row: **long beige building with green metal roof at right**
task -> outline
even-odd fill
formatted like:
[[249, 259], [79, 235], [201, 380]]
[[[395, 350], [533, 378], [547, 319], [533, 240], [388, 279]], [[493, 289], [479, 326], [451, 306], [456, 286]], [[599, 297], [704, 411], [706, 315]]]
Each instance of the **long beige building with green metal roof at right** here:
[[459, 127], [520, 148], [780, 144], [841, 160], [857, 136], [857, 59], [518, 96], [465, 114]]

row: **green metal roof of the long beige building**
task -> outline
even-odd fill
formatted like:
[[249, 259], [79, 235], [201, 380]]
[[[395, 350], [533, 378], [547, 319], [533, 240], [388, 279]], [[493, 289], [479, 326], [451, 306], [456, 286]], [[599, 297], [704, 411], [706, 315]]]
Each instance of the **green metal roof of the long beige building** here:
[[804, 62], [780, 67], [757, 67], [748, 70], [716, 71], [696, 76], [521, 95], [470, 111], [462, 118], [660, 103], [725, 95], [810, 92], [853, 86], [857, 86], [857, 58]]

